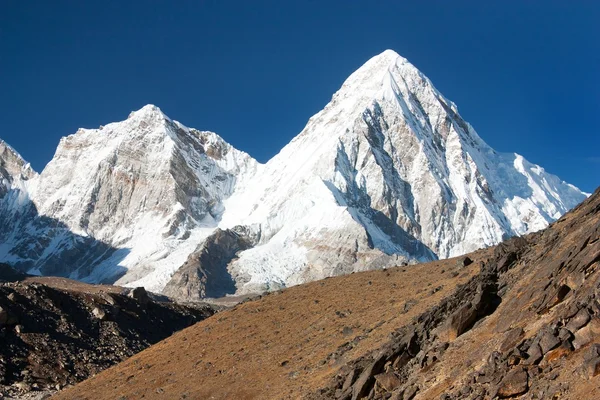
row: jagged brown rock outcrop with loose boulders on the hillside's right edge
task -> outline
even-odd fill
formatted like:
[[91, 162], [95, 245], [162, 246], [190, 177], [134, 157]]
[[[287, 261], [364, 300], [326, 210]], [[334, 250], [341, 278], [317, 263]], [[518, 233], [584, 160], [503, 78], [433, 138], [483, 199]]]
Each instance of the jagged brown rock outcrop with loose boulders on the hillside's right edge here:
[[[499, 245], [471, 282], [314, 398], [595, 397], [599, 296], [600, 189], [549, 229]], [[376, 379], [385, 363], [401, 384]]]

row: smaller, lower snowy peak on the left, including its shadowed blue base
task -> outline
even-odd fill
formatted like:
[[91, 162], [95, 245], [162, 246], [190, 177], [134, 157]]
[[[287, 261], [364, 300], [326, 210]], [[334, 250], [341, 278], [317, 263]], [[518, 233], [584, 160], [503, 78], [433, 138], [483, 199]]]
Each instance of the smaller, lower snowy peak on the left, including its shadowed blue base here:
[[61, 139], [36, 178], [36, 216], [3, 247], [3, 258], [31, 272], [158, 290], [215, 229], [223, 200], [256, 168], [218, 135], [188, 128], [153, 105], [121, 122], [80, 129]]

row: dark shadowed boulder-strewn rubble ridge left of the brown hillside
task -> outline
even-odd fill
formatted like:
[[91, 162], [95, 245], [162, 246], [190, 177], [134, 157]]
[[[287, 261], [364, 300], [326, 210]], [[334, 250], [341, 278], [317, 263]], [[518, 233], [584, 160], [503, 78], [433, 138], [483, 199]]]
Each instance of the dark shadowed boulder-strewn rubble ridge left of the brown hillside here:
[[143, 289], [0, 270], [0, 398], [75, 384], [214, 313]]

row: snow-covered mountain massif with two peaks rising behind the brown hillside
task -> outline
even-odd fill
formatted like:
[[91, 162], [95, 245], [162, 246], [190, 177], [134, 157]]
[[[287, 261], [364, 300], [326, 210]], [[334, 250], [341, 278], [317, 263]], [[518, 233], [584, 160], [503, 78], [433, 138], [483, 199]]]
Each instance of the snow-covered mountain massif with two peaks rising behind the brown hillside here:
[[[0, 261], [183, 298], [463, 254], [542, 229], [586, 196], [491, 149], [393, 51], [264, 165], [146, 106], [62, 139], [29, 180], [0, 208], [17, 221], [0, 232]], [[242, 246], [215, 241], [236, 229]]]

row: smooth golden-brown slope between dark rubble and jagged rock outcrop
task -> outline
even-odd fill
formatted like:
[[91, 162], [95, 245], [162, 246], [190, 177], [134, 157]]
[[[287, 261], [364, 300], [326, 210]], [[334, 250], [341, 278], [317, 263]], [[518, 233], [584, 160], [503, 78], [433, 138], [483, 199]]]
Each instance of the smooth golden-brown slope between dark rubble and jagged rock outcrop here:
[[479, 272], [456, 259], [265, 295], [185, 329], [57, 399], [297, 399]]

